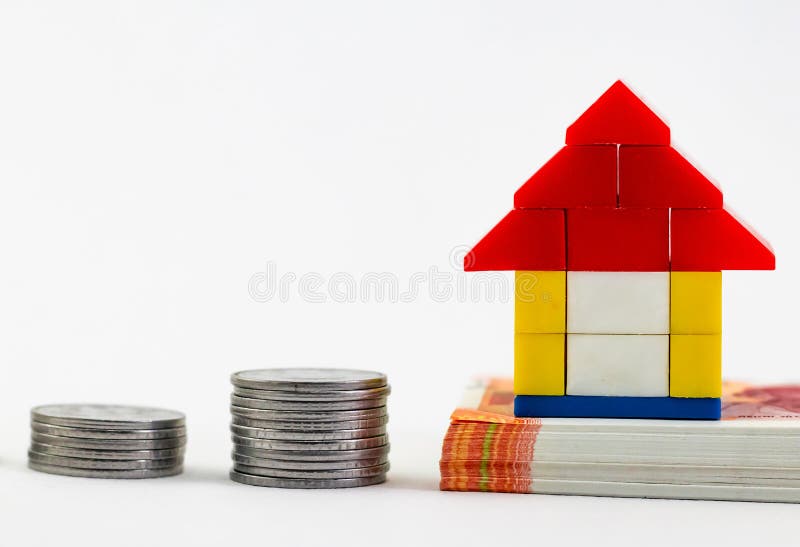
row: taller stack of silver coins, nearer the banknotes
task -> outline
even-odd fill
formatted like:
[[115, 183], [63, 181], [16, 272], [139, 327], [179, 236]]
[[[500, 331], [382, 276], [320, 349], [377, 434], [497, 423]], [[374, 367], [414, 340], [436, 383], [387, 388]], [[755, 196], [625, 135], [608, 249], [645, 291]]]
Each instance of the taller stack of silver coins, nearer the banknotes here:
[[278, 488], [386, 480], [390, 388], [384, 374], [262, 369], [237, 372], [231, 382], [232, 480]]

